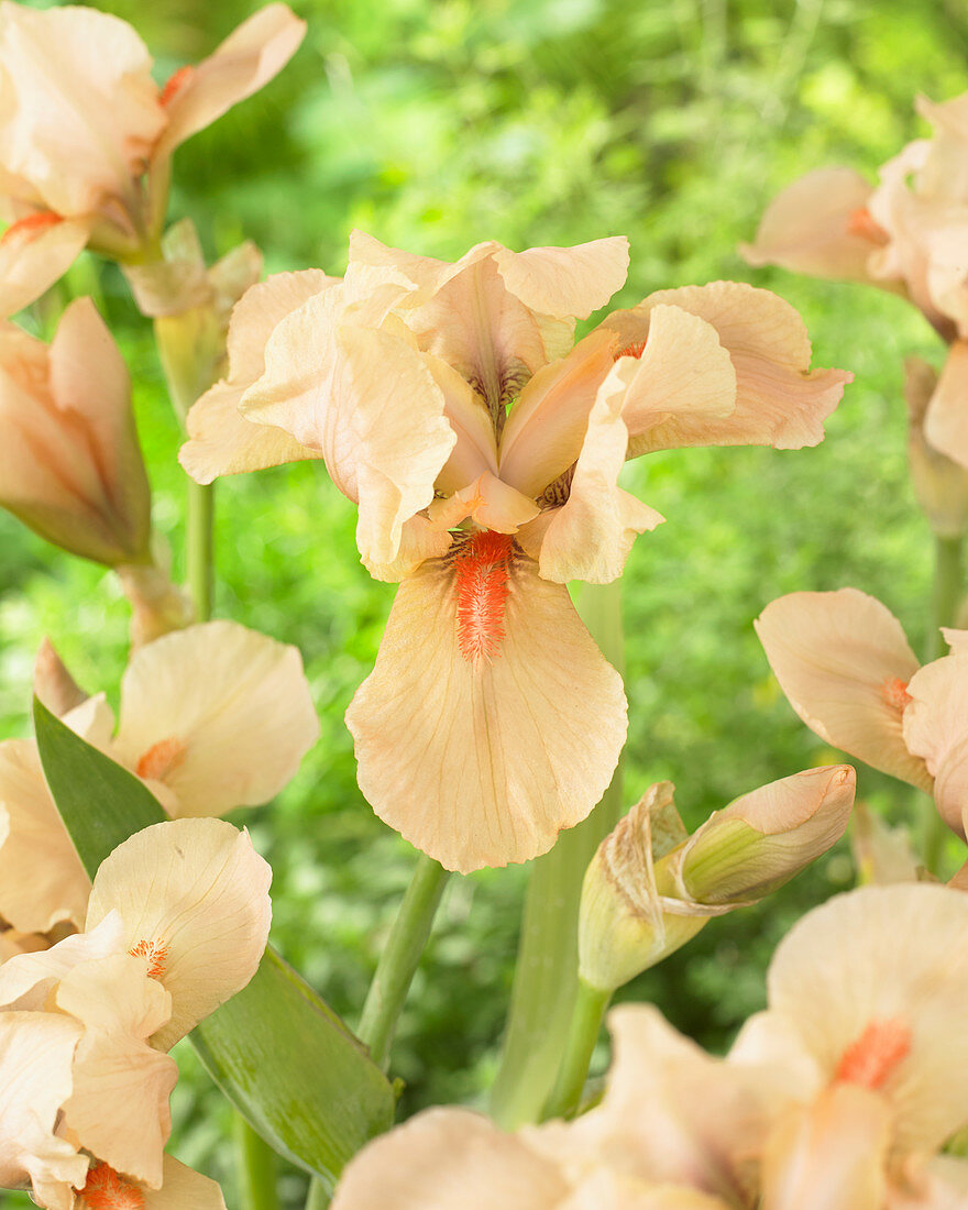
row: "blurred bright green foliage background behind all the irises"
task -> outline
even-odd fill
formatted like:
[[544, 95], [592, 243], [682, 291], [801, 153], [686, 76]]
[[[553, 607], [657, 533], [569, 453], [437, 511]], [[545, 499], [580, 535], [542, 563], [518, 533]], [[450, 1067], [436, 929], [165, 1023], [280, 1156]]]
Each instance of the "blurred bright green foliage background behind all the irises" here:
[[[116, 0], [159, 79], [206, 54], [248, 0]], [[834, 759], [772, 681], [751, 621], [797, 588], [853, 584], [885, 600], [923, 646], [932, 540], [905, 466], [901, 358], [940, 361], [903, 301], [863, 287], [751, 271], [737, 244], [764, 206], [829, 162], [869, 174], [922, 132], [917, 92], [968, 87], [962, 0], [295, 0], [305, 44], [264, 92], [177, 157], [171, 218], [190, 214], [215, 257], [243, 237], [270, 271], [345, 267], [361, 226], [455, 259], [627, 234], [617, 301], [720, 277], [768, 286], [807, 321], [816, 363], [857, 381], [814, 450], [652, 456], [632, 486], [667, 518], [624, 580], [630, 803], [658, 778], [698, 824], [764, 782]], [[60, 288], [93, 293], [128, 358], [155, 486], [155, 518], [182, 564], [177, 424], [149, 327], [113, 269], [82, 259]], [[355, 1021], [414, 852], [355, 783], [344, 710], [369, 670], [392, 599], [359, 566], [351, 505], [319, 466], [218, 489], [218, 612], [295, 643], [323, 734], [273, 805], [237, 813], [275, 870], [276, 944]], [[0, 514], [0, 721], [27, 732], [30, 668], [53, 638], [77, 679], [115, 692], [127, 611], [111, 576]], [[911, 793], [862, 770], [891, 818]], [[455, 878], [394, 1050], [407, 1111], [480, 1102], [508, 1003], [526, 870]], [[841, 846], [756, 910], [714, 921], [627, 989], [721, 1048], [764, 1002], [764, 969], [803, 910], [851, 885]], [[172, 1150], [237, 1204], [230, 1114], [191, 1051], [178, 1051]], [[302, 1177], [284, 1175], [287, 1205]], [[25, 1200], [0, 1197], [5, 1208]]]

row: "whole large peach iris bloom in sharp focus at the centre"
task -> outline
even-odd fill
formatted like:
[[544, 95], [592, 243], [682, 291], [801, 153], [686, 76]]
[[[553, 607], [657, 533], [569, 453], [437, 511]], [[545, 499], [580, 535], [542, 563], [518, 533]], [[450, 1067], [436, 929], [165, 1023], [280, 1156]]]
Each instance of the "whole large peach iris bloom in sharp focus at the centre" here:
[[627, 265], [622, 238], [448, 264], [356, 232], [341, 282], [243, 300], [230, 340], [264, 342], [263, 367], [240, 355], [190, 416], [203, 482], [322, 456], [363, 561], [403, 580], [347, 724], [378, 814], [450, 869], [544, 852], [611, 778], [624, 695], [564, 583], [613, 580], [661, 520], [618, 488], [627, 456], [816, 444], [849, 379], [808, 371], [791, 307], [726, 282], [571, 348]]

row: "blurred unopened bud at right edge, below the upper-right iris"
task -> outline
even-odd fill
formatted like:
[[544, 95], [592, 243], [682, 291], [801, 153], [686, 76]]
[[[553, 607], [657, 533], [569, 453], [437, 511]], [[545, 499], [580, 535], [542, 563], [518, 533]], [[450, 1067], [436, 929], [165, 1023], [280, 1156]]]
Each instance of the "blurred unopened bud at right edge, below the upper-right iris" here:
[[939, 537], [961, 537], [968, 528], [968, 471], [924, 437], [924, 414], [938, 386], [938, 374], [920, 357], [904, 363], [908, 401], [908, 462], [917, 502]]

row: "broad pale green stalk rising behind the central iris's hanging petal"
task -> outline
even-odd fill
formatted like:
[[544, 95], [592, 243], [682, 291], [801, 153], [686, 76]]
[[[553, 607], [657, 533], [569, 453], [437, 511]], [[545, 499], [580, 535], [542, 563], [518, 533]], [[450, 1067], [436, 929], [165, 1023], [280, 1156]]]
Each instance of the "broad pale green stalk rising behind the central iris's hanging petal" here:
[[[578, 612], [605, 657], [622, 672], [621, 583], [587, 584]], [[561, 832], [531, 868], [501, 1067], [491, 1093], [491, 1114], [505, 1129], [537, 1122], [554, 1084], [578, 996], [582, 878], [621, 814], [620, 764], [588, 819]]]

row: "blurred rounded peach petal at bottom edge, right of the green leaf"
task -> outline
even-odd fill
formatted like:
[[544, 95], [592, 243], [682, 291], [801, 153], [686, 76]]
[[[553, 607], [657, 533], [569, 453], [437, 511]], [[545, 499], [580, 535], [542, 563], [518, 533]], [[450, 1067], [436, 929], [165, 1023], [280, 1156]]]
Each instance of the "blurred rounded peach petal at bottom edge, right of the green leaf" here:
[[469, 1110], [426, 1110], [368, 1143], [333, 1210], [558, 1210], [558, 1165]]

